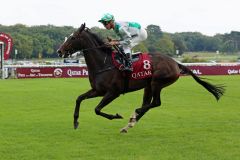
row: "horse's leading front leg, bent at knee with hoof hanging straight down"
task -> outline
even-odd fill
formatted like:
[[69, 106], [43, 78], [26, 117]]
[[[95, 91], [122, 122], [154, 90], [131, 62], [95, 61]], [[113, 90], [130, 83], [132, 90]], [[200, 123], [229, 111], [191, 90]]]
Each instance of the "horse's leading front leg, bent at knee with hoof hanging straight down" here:
[[99, 96], [99, 94], [97, 93], [96, 90], [91, 89], [89, 91], [87, 91], [86, 93], [78, 96], [77, 100], [76, 100], [76, 106], [75, 106], [75, 110], [74, 110], [74, 129], [78, 128], [78, 117], [79, 117], [79, 109], [80, 109], [80, 104], [84, 99], [89, 99], [89, 98], [94, 98]]

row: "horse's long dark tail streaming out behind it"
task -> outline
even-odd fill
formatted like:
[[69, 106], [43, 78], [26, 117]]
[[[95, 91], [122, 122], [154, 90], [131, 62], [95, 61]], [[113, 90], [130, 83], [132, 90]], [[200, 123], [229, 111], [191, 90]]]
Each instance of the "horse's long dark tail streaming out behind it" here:
[[179, 63], [178, 63], [178, 66], [182, 70], [181, 73], [191, 75], [195, 79], [195, 81], [197, 81], [204, 88], [206, 88], [210, 93], [212, 93], [217, 100], [219, 100], [220, 97], [224, 94], [225, 88], [224, 88], [223, 85], [213, 85], [209, 82], [206, 82], [206, 81], [202, 80], [203, 78], [200, 78], [197, 75], [195, 75], [186, 66], [184, 66], [182, 64], [179, 64]]

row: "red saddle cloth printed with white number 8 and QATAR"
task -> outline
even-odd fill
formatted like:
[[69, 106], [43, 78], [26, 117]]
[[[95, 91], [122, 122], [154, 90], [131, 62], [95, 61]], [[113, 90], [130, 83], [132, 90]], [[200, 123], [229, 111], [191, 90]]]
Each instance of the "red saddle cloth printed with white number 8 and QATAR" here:
[[[123, 64], [120, 59], [119, 53], [112, 53], [113, 64], [119, 69], [122, 70]], [[133, 72], [129, 77], [131, 80], [139, 80], [144, 78], [152, 77], [152, 62], [147, 53], [138, 53], [132, 55], [132, 67]]]

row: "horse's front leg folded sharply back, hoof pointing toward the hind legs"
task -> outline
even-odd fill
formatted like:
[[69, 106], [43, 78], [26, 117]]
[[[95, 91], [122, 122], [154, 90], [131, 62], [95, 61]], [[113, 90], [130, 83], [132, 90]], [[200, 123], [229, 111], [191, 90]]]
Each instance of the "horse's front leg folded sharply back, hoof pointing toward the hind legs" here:
[[103, 107], [105, 107], [106, 105], [108, 105], [110, 102], [112, 102], [114, 99], [116, 99], [119, 96], [119, 94], [116, 93], [112, 93], [112, 92], [107, 92], [103, 99], [101, 100], [101, 102], [97, 105], [97, 107], [95, 108], [95, 113], [97, 115], [103, 116], [107, 119], [122, 119], [123, 117], [119, 114], [116, 115], [111, 115], [111, 114], [107, 114], [107, 113], [103, 113], [101, 112], [101, 110], [103, 109]]

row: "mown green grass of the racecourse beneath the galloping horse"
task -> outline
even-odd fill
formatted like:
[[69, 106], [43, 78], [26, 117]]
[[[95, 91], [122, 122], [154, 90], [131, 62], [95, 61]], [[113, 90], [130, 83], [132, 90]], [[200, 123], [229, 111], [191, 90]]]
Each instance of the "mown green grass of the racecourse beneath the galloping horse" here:
[[211, 76], [224, 83], [219, 102], [191, 77], [162, 92], [162, 106], [150, 110], [127, 134], [119, 130], [141, 105], [143, 91], [120, 96], [104, 108], [123, 120], [96, 116], [100, 98], [82, 102], [73, 129], [77, 96], [87, 79], [0, 81], [2, 160], [238, 160], [240, 76]]

